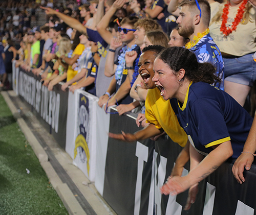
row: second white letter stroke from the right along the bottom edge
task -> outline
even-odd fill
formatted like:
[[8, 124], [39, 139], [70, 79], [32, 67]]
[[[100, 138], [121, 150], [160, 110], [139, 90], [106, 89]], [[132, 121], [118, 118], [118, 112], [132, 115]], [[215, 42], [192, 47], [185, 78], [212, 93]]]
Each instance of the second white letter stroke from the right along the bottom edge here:
[[215, 191], [216, 187], [207, 182], [203, 215], [210, 215], [214, 211]]

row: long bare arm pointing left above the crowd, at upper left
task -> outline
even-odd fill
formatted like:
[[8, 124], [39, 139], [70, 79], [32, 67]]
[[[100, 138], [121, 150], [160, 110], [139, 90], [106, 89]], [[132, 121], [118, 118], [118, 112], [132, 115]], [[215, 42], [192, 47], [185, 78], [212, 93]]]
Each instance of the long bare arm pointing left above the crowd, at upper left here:
[[76, 29], [77, 31], [81, 33], [87, 33], [87, 28], [82, 25], [77, 19], [72, 18], [70, 16], [67, 16], [63, 13], [60, 13], [56, 10], [53, 10], [51, 8], [45, 8], [45, 7], [40, 7], [41, 9], [44, 9], [46, 11], [47, 15], [56, 15], [60, 19], [62, 19], [68, 26], [71, 28]]

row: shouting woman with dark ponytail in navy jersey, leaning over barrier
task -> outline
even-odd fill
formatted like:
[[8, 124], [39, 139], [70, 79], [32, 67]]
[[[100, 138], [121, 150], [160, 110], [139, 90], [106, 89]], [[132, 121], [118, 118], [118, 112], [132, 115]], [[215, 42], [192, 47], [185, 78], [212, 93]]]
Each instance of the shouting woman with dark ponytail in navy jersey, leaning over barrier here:
[[223, 162], [248, 153], [243, 147], [247, 149], [252, 117], [230, 95], [211, 85], [220, 82], [214, 66], [198, 63], [189, 50], [165, 49], [157, 56], [154, 71], [152, 80], [162, 97], [170, 99], [190, 142], [190, 172], [184, 177], [170, 176], [161, 193], [174, 196], [189, 188], [189, 197], [195, 196], [198, 183]]

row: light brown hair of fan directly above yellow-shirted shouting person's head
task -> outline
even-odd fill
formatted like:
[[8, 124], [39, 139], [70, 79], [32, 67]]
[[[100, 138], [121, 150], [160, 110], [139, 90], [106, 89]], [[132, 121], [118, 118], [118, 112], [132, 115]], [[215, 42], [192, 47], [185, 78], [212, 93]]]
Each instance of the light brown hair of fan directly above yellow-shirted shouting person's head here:
[[153, 45], [161, 45], [163, 47], [168, 47], [168, 41], [169, 38], [167, 34], [165, 34], [163, 31], [155, 30], [155, 31], [149, 31], [146, 33], [146, 37]]

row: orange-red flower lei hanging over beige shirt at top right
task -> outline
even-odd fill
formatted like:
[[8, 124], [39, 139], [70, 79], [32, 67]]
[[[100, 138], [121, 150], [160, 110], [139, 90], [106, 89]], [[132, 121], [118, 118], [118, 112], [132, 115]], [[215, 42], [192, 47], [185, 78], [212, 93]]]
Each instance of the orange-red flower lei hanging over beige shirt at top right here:
[[243, 0], [243, 3], [240, 5], [240, 7], [238, 9], [238, 13], [237, 13], [236, 17], [234, 18], [234, 21], [232, 22], [231, 29], [226, 27], [227, 18], [228, 18], [227, 15], [229, 13], [228, 10], [229, 10], [230, 3], [226, 4], [225, 7], [223, 8], [221, 31], [223, 32], [223, 34], [225, 36], [228, 36], [229, 34], [232, 33], [232, 31], [235, 31], [237, 29], [239, 22], [243, 18], [244, 9], [245, 9], [245, 5], [247, 4], [247, 1], [248, 0]]

